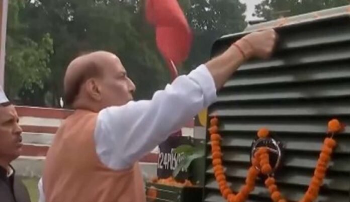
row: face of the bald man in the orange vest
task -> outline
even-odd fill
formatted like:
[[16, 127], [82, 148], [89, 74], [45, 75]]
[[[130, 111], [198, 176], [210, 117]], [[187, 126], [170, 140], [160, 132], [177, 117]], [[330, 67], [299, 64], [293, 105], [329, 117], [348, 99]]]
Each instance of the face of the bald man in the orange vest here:
[[135, 84], [127, 76], [126, 70], [116, 56], [106, 60], [101, 95], [104, 106], [121, 106], [133, 99]]

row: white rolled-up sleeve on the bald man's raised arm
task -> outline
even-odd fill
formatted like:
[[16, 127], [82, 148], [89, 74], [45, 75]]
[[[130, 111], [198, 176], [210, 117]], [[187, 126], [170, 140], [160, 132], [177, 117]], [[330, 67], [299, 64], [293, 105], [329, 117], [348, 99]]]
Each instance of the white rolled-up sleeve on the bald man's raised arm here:
[[95, 141], [101, 161], [126, 169], [216, 100], [214, 79], [205, 65], [176, 78], [150, 100], [109, 107], [98, 115]]

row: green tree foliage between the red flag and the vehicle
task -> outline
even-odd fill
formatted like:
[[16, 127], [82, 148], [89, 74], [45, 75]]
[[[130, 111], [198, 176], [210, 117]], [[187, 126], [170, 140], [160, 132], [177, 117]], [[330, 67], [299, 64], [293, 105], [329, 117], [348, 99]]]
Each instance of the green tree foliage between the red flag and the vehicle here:
[[244, 30], [246, 6], [239, 0], [191, 0], [187, 4], [181, 3], [194, 32], [192, 50], [182, 70], [188, 72], [209, 59], [216, 39]]

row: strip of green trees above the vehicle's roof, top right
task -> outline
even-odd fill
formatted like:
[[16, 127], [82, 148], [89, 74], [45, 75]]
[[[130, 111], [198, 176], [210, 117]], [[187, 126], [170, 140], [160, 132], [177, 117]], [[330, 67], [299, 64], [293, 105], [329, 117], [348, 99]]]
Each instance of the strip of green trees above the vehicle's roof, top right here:
[[254, 15], [269, 21], [348, 4], [348, 0], [264, 0], [255, 6]]

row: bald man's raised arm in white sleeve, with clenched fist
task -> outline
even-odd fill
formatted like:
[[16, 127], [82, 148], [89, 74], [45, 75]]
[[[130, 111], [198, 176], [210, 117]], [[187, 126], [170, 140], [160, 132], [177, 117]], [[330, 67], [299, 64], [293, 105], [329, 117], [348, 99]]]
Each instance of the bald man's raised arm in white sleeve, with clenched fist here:
[[95, 140], [101, 161], [126, 169], [181, 129], [216, 99], [219, 89], [250, 57], [268, 58], [275, 46], [273, 30], [246, 35], [220, 56], [179, 76], [151, 100], [109, 107], [99, 113]]

